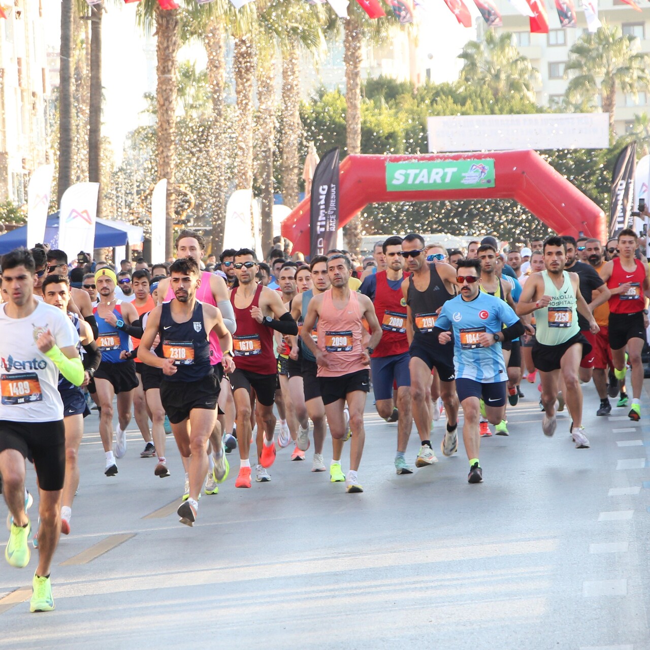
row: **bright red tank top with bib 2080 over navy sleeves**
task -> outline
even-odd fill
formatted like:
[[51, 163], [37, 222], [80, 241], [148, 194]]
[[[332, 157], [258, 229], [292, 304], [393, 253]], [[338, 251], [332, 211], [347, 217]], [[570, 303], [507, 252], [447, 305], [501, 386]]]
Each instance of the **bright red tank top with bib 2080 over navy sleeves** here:
[[[408, 352], [406, 340], [406, 305], [402, 305], [402, 287], [391, 289], [385, 271], [377, 274], [374, 311], [382, 326], [382, 338], [374, 348], [373, 357], [389, 357]], [[402, 274], [402, 279], [406, 275]]]

